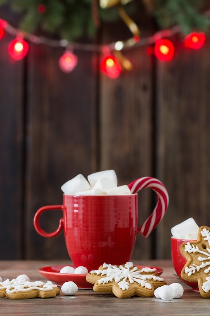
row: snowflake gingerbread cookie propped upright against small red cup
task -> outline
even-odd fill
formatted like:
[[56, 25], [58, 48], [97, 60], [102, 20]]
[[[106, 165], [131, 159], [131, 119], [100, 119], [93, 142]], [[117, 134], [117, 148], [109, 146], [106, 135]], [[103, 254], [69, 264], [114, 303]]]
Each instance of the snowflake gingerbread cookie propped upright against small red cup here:
[[197, 241], [188, 241], [180, 246], [181, 254], [187, 259], [181, 277], [198, 282], [202, 297], [210, 298], [210, 228], [201, 226]]

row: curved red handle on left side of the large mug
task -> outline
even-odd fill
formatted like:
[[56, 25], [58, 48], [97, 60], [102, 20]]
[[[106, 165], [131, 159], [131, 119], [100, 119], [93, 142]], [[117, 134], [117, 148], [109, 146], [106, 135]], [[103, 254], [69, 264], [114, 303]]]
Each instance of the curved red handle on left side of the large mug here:
[[60, 221], [59, 221], [59, 226], [58, 228], [52, 232], [52, 233], [48, 233], [48, 232], [45, 232], [41, 226], [40, 226], [40, 223], [39, 223], [39, 218], [40, 218], [40, 215], [48, 210], [57, 210], [57, 209], [61, 209], [63, 211], [64, 209], [64, 205], [52, 205], [52, 206], [43, 206], [41, 208], [39, 208], [34, 216], [34, 227], [35, 227], [35, 230], [37, 231], [37, 233], [43, 237], [54, 237], [54, 236], [57, 236], [61, 230], [63, 229], [64, 227], [64, 219], [63, 218], [60, 218]]

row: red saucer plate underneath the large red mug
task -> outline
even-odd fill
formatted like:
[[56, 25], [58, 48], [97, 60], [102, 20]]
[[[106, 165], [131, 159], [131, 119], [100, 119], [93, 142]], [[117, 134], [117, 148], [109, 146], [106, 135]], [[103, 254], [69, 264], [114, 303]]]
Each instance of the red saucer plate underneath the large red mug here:
[[[50, 280], [56, 283], [58, 286], [62, 286], [64, 282], [73, 281], [77, 284], [79, 289], [92, 289], [93, 288], [93, 284], [86, 281], [85, 274], [60, 273], [60, 270], [65, 266], [71, 266], [71, 265], [56, 265], [56, 266], [43, 267], [43, 268], [39, 268], [38, 271], [47, 280]], [[139, 266], [139, 265], [136, 265], [136, 266], [141, 269], [147, 267], [147, 266]], [[150, 267], [150, 268], [156, 268], [159, 276], [163, 272], [163, 269], [158, 268], [158, 267]]]

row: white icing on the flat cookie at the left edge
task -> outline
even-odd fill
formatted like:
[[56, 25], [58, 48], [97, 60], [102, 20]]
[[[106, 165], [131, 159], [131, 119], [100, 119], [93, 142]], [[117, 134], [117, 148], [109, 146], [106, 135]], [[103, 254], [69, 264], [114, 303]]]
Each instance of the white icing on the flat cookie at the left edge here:
[[34, 281], [30, 282], [26, 279], [9, 279], [0, 282], [0, 288], [6, 289], [6, 292], [20, 292], [20, 291], [29, 291], [29, 290], [39, 290], [39, 291], [49, 291], [52, 290], [53, 287], [57, 287], [56, 284], [53, 284], [51, 281], [47, 281], [46, 283], [42, 281]]

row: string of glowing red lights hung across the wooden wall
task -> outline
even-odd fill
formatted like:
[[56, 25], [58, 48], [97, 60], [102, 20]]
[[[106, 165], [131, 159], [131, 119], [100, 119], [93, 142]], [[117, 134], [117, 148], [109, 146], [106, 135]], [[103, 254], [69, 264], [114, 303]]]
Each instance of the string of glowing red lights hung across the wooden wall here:
[[[47, 10], [45, 5], [39, 5], [37, 10], [40, 13], [44, 14]], [[210, 16], [210, 11], [206, 12], [206, 15]], [[7, 31], [10, 35], [16, 37], [8, 47], [10, 56], [14, 60], [20, 60], [25, 57], [28, 52], [29, 45], [27, 43], [31, 42], [35, 45], [44, 44], [51, 47], [63, 47], [66, 48], [66, 52], [59, 59], [59, 67], [63, 72], [69, 73], [74, 70], [78, 63], [78, 58], [71, 51], [68, 51], [69, 42], [65, 39], [54, 40], [45, 38], [42, 36], [36, 36], [33, 34], [22, 33], [22, 36], [19, 37], [20, 31], [13, 26], [11, 26], [5, 20], [0, 19], [0, 38], [3, 37], [4, 32]], [[169, 30], [158, 31], [150, 37], [141, 38], [139, 30], [134, 36], [125, 40], [112, 42], [110, 44], [96, 45], [96, 44], [83, 44], [79, 42], [72, 42], [72, 50], [82, 50], [89, 52], [98, 52], [99, 54], [105, 55], [101, 63], [101, 70], [110, 78], [117, 78], [122, 69], [131, 70], [131, 62], [125, 58], [121, 50], [129, 49], [133, 46], [146, 46], [146, 52], [149, 55], [154, 54], [159, 60], [170, 61], [174, 56], [174, 46], [173, 43], [166, 38], [170, 38], [176, 34], [180, 33], [180, 27], [174, 26]], [[25, 41], [25, 40], [27, 41]], [[191, 33], [185, 38], [184, 44], [186, 47], [193, 49], [200, 49], [205, 42], [204, 33]], [[153, 48], [154, 46], [154, 48]], [[104, 52], [106, 48], [106, 52]], [[113, 55], [112, 55], [113, 52]], [[109, 57], [109, 58], [108, 58]]]

